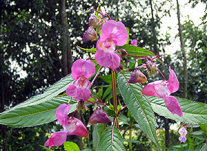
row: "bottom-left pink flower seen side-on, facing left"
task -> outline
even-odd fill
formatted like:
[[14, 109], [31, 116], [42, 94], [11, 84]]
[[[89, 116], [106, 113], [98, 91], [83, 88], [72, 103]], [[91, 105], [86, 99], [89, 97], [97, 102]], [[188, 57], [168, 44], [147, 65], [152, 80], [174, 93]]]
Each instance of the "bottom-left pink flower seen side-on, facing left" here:
[[88, 137], [88, 131], [83, 123], [74, 117], [68, 117], [70, 104], [61, 104], [56, 110], [58, 122], [63, 126], [64, 130], [53, 133], [45, 142], [44, 146], [61, 146], [67, 138], [67, 135], [77, 135]]

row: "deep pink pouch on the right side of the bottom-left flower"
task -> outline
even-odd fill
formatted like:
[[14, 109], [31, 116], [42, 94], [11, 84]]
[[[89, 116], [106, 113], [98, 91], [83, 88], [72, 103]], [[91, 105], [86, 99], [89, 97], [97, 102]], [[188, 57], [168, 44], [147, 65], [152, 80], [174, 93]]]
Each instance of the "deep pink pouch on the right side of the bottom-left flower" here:
[[77, 135], [82, 137], [88, 137], [88, 131], [85, 125], [77, 118], [71, 117], [64, 126], [67, 135]]

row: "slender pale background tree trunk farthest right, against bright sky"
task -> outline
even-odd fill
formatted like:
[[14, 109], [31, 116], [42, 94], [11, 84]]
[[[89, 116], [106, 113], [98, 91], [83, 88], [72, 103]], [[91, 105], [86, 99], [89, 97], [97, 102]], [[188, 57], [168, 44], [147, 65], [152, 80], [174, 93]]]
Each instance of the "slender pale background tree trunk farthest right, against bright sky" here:
[[180, 37], [180, 48], [181, 53], [183, 56], [183, 69], [184, 69], [184, 98], [187, 98], [187, 86], [188, 86], [188, 71], [187, 71], [187, 59], [186, 59], [186, 53], [184, 49], [184, 42], [183, 42], [183, 33], [182, 33], [182, 25], [180, 23], [180, 5], [178, 0], [177, 2], [177, 18], [178, 18], [178, 31], [179, 31], [179, 37]]

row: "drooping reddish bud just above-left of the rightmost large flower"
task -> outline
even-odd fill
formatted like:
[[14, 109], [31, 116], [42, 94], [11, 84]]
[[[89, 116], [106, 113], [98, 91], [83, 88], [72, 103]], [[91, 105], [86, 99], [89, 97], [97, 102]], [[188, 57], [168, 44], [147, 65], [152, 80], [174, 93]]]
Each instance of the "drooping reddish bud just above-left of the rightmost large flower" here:
[[128, 83], [146, 83], [147, 82], [147, 77], [140, 71], [140, 70], [135, 70], [130, 78]]

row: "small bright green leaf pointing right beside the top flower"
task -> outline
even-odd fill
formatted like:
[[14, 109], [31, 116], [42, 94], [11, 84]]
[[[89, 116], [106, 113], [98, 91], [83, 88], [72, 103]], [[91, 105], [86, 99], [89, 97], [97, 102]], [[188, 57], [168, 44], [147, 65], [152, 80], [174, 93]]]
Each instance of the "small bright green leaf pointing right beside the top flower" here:
[[146, 50], [141, 47], [132, 46], [129, 44], [126, 44], [124, 46], [117, 46], [117, 49], [125, 49], [128, 55], [133, 55], [133, 56], [154, 56], [155, 55], [153, 52], [149, 50]]

